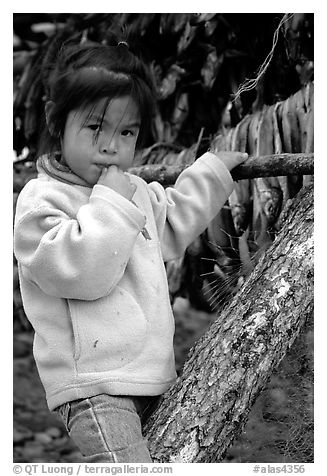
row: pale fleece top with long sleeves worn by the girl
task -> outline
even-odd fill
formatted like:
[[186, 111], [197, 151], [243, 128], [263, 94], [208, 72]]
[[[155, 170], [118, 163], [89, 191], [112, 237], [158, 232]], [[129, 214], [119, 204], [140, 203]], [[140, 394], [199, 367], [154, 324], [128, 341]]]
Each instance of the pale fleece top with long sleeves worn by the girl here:
[[49, 409], [100, 393], [165, 392], [176, 372], [164, 261], [217, 215], [233, 188], [229, 171], [206, 153], [174, 188], [130, 175], [132, 203], [46, 157], [38, 170], [18, 198], [14, 251]]

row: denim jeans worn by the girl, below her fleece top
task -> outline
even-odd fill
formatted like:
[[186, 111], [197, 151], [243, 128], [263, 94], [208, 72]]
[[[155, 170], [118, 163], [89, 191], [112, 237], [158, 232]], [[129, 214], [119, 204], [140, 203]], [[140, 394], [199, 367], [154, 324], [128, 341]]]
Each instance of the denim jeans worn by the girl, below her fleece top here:
[[151, 463], [141, 418], [157, 397], [96, 395], [56, 410], [88, 463]]

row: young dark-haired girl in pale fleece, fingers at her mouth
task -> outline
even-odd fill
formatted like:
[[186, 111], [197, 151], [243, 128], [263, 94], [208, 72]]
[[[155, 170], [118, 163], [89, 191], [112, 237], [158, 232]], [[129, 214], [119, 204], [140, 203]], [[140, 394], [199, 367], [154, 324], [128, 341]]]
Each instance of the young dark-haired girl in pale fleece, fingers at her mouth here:
[[48, 83], [48, 150], [14, 233], [35, 360], [85, 461], [151, 462], [141, 417], [176, 378], [164, 261], [217, 215], [247, 154], [207, 152], [174, 188], [130, 175], [154, 89], [126, 43], [63, 48]]

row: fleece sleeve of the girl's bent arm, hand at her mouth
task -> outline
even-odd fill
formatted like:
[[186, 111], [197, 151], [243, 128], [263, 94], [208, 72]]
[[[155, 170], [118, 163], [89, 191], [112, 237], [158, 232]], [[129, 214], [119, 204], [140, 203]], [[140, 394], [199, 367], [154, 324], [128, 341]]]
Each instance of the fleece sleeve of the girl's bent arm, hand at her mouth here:
[[15, 255], [21, 272], [45, 293], [98, 299], [121, 279], [145, 217], [102, 185], [76, 217], [69, 216], [64, 200], [58, 194], [23, 214], [18, 204]]

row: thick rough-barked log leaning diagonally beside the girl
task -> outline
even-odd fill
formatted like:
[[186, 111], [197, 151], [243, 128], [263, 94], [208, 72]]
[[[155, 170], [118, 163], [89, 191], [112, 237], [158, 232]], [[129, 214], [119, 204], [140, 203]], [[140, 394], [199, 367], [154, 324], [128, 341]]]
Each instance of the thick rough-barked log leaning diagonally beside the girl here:
[[156, 462], [219, 462], [272, 370], [313, 312], [313, 185], [242, 289], [190, 350], [182, 375], [149, 418]]

